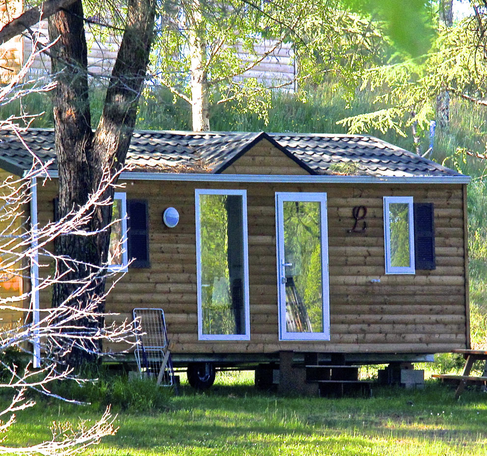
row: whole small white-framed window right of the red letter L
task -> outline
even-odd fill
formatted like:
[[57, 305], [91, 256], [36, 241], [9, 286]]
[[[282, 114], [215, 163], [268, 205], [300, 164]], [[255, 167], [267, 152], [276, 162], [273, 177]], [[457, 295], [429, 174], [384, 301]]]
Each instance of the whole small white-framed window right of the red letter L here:
[[414, 274], [412, 196], [384, 196], [385, 273]]

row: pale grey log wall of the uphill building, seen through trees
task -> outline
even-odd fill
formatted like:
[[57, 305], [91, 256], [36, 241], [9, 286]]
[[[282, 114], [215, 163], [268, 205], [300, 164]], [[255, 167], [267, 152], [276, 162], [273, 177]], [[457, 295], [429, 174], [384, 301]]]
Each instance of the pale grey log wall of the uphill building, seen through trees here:
[[[9, 2], [18, 2], [19, 0], [0, 0]], [[42, 21], [36, 26], [32, 27], [34, 32], [37, 32], [40, 36], [42, 43], [48, 42], [48, 30], [47, 21]], [[32, 52], [32, 42], [30, 39], [25, 38], [20, 40], [15, 38], [20, 43], [20, 54], [16, 51], [18, 67], [22, 64], [22, 44], [24, 49], [24, 61]], [[117, 56], [119, 39], [117, 37], [108, 35], [105, 41], [102, 43], [96, 39], [96, 37], [89, 32], [89, 25], [86, 27], [86, 40], [90, 51], [88, 53], [88, 71], [92, 76], [108, 76], [111, 72], [113, 63]], [[13, 40], [11, 40], [13, 41]], [[10, 43], [10, 41], [9, 41]], [[7, 43], [8, 46], [9, 43]], [[271, 49], [272, 42], [270, 40], [264, 40], [263, 43], [255, 46], [257, 55], [263, 55], [266, 51]], [[4, 47], [1, 47], [2, 50]], [[8, 48], [10, 49], [10, 48]], [[237, 54], [242, 58], [244, 64], [249, 64], [255, 57], [242, 49], [242, 46], [237, 46]], [[11, 54], [6, 54], [11, 55]], [[293, 92], [296, 89], [296, 67], [293, 60], [293, 47], [291, 43], [283, 43], [278, 46], [275, 51], [266, 56], [262, 62], [256, 65], [251, 70], [248, 70], [243, 75], [236, 78], [236, 80], [247, 80], [249, 78], [255, 78], [258, 82], [263, 83], [266, 86], [280, 86], [286, 91]], [[1, 54], [0, 54], [1, 56]], [[0, 65], [3, 65], [0, 59]], [[51, 60], [49, 56], [39, 56], [35, 59], [30, 73], [32, 75], [44, 76], [51, 71]], [[289, 84], [288, 84], [289, 83]]]

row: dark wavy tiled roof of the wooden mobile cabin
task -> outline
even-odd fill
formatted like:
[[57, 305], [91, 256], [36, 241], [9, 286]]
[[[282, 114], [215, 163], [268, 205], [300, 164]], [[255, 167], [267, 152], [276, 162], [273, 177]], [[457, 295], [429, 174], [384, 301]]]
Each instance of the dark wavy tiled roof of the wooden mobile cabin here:
[[[54, 131], [29, 129], [23, 141], [56, 169]], [[253, 145], [267, 139], [311, 174], [461, 176], [461, 174], [372, 136], [346, 134], [134, 132], [127, 164], [136, 171], [219, 173]], [[0, 166], [21, 174], [31, 155], [16, 134], [0, 131]]]

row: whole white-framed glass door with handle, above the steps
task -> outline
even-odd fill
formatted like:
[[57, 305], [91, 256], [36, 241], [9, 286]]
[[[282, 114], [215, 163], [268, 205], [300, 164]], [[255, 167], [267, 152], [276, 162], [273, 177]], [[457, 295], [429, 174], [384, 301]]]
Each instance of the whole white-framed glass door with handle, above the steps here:
[[280, 340], [329, 340], [326, 193], [276, 193]]

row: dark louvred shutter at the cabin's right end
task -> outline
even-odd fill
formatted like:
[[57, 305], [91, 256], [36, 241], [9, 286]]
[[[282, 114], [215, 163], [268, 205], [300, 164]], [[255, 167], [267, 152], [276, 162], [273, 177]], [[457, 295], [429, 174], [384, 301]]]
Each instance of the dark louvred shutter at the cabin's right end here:
[[433, 203], [414, 203], [414, 262], [416, 269], [435, 269]]

